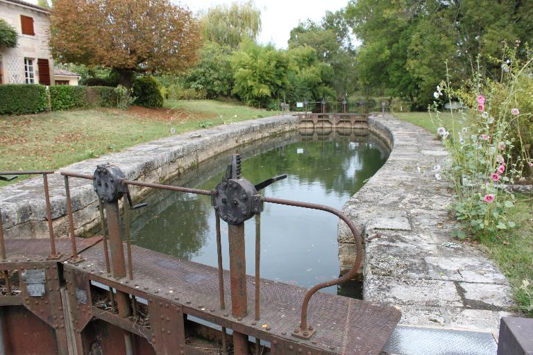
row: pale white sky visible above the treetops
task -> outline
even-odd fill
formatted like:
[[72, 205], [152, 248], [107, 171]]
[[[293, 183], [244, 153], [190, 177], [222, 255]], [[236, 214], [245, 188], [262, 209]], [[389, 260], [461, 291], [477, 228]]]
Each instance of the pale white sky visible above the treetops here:
[[[37, 3], [37, 0], [26, 0]], [[171, 0], [189, 10], [196, 12], [221, 3], [232, 3], [235, 0]], [[243, 1], [239, 1], [243, 2]], [[336, 11], [344, 8], [348, 0], [255, 0], [255, 6], [261, 10], [262, 31], [258, 42], [272, 42], [278, 49], [286, 49], [291, 29], [299, 21], [312, 19], [319, 21], [326, 10]]]

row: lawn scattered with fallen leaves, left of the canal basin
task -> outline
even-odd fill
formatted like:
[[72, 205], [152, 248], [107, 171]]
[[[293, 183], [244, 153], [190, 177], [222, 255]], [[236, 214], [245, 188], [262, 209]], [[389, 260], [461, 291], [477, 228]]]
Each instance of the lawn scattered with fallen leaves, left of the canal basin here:
[[[278, 112], [235, 103], [172, 101], [156, 110], [133, 106], [128, 111], [102, 108], [0, 116], [0, 171], [55, 170], [172, 134], [274, 114]], [[0, 186], [22, 178], [26, 176], [0, 181]]]

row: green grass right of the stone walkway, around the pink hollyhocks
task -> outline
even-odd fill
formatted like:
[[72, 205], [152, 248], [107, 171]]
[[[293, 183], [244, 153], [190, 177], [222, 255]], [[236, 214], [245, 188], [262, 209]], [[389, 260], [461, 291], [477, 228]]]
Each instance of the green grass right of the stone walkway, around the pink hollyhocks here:
[[[432, 122], [428, 112], [394, 112], [398, 119], [412, 122], [437, 134], [438, 122]], [[460, 116], [455, 116], [456, 123]], [[441, 114], [441, 120], [447, 130], [452, 130], [452, 116]], [[466, 125], [473, 124], [467, 121]], [[456, 132], [459, 128], [455, 128]], [[518, 306], [533, 317], [533, 196], [516, 193], [516, 204], [509, 211], [509, 219], [516, 223], [516, 228], [500, 234], [500, 239], [481, 239], [482, 248], [496, 261], [514, 287], [514, 296]], [[530, 283], [521, 288], [523, 280]]]

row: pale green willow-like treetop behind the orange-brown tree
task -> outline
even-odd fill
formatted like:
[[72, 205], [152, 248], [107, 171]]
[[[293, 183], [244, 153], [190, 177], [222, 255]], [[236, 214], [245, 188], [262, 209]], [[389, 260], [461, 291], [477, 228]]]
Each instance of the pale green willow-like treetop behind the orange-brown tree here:
[[205, 40], [236, 50], [243, 40], [256, 40], [261, 32], [261, 11], [253, 1], [217, 5], [201, 19]]

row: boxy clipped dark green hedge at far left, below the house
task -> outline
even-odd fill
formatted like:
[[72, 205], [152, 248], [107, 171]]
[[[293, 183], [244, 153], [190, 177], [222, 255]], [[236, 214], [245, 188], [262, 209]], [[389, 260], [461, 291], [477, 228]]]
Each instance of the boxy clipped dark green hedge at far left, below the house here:
[[43, 85], [0, 85], [0, 114], [35, 114], [47, 107], [46, 87]]

